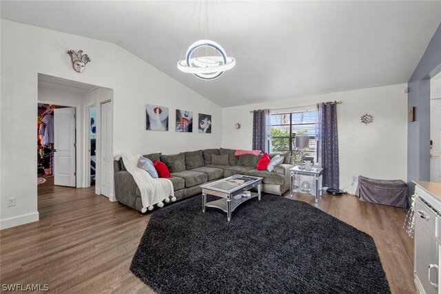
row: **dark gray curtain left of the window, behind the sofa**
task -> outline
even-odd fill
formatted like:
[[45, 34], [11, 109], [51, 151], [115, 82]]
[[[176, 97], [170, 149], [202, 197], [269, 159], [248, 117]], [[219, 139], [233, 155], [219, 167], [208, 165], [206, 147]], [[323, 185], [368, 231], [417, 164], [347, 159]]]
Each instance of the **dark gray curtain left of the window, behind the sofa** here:
[[253, 150], [269, 152], [271, 140], [269, 109], [259, 109], [253, 112]]

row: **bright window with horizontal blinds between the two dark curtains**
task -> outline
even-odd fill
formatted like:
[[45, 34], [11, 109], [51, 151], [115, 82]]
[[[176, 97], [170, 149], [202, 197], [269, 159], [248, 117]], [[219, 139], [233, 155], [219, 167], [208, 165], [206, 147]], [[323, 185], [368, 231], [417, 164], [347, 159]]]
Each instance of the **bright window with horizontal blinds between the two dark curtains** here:
[[296, 135], [309, 136], [309, 148], [305, 148], [305, 160], [317, 162], [316, 110], [271, 114], [271, 152], [289, 151], [294, 162], [300, 163], [300, 149], [295, 148]]

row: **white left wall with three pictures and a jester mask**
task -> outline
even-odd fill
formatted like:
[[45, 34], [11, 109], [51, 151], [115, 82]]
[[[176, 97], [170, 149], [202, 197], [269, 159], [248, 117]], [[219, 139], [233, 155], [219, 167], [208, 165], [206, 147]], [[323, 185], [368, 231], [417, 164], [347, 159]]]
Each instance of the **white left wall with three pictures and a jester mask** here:
[[[68, 50], [92, 60], [82, 73], [72, 69]], [[73, 34], [1, 20], [0, 228], [38, 220], [38, 74], [113, 90], [113, 151], [147, 154], [220, 147], [222, 109], [152, 65], [115, 45]], [[145, 104], [169, 107], [169, 131], [145, 130]], [[212, 115], [212, 134], [174, 132], [175, 109]], [[19, 118], [20, 122], [17, 123]], [[196, 120], [197, 121], [197, 120]], [[196, 123], [194, 124], [196, 125]], [[16, 198], [15, 207], [7, 207]]]

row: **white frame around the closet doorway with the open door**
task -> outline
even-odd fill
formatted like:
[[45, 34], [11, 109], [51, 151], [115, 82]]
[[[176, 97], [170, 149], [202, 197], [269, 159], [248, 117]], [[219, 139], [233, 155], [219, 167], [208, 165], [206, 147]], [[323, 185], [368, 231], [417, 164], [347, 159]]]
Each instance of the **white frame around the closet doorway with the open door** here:
[[[82, 188], [84, 185], [83, 179], [81, 175], [83, 174], [83, 164], [81, 160], [81, 148], [79, 146], [81, 145], [82, 138], [81, 138], [81, 121], [82, 121], [82, 114], [83, 110], [81, 109], [81, 104], [76, 103], [66, 103], [63, 101], [48, 101], [48, 100], [37, 100], [37, 107], [39, 103], [43, 104], [52, 104], [52, 105], [59, 105], [59, 106], [65, 106], [65, 107], [75, 107], [75, 171], [76, 171], [76, 188]], [[38, 114], [37, 114], [38, 117]], [[36, 117], [36, 121], [37, 121]]]

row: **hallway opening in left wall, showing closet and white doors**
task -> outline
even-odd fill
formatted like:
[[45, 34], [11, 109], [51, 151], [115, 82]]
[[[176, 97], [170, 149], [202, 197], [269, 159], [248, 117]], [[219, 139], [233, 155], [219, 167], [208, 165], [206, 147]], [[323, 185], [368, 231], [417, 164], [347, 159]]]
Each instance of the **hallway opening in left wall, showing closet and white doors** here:
[[[101, 160], [101, 154], [107, 156], [113, 152], [111, 140], [113, 90], [45, 74], [38, 75], [38, 86], [39, 114], [49, 109], [50, 112], [52, 111], [54, 122], [54, 143], [46, 150], [52, 154], [52, 159], [47, 159], [49, 163], [41, 162], [41, 157], [37, 160], [39, 178], [46, 180], [45, 183], [42, 183], [44, 180], [39, 180], [39, 191], [41, 185], [50, 183], [53, 187], [58, 187], [54, 191], [65, 191], [65, 189], [71, 189], [70, 187], [85, 188], [92, 185], [94, 186], [92, 191], [96, 194], [114, 201], [113, 165], [107, 165]], [[106, 103], [109, 103], [110, 107], [102, 109]], [[103, 114], [105, 114], [105, 120], [103, 120]], [[57, 117], [61, 123], [57, 123]], [[37, 119], [43, 121], [43, 118]], [[103, 136], [100, 131], [104, 121], [103, 129], [106, 130], [106, 136]], [[47, 171], [44, 169], [45, 166], [49, 166]], [[108, 176], [103, 178], [103, 175]], [[52, 178], [49, 180], [50, 176]], [[107, 185], [108, 183], [110, 186]], [[45, 188], [45, 191], [47, 190]]]

